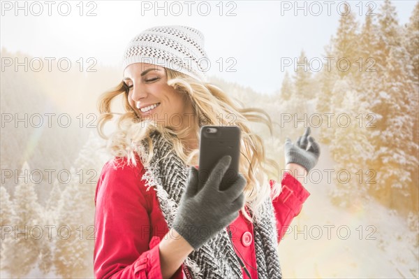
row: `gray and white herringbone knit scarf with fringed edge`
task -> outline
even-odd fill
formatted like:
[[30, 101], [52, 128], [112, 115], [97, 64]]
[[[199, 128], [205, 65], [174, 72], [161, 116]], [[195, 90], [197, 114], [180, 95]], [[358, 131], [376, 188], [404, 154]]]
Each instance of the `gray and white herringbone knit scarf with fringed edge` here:
[[[173, 150], [172, 143], [159, 132], [153, 131], [150, 136], [154, 154], [142, 180], [146, 180], [148, 189], [155, 187], [161, 210], [170, 228], [186, 187], [189, 166], [182, 162]], [[144, 151], [142, 148], [148, 150], [146, 141], [140, 146], [140, 156]], [[281, 278], [272, 200], [267, 199], [264, 205], [267, 210], [253, 223], [258, 278]], [[200, 249], [191, 252], [184, 264], [192, 271], [193, 278], [242, 278], [242, 269], [225, 229]], [[251, 269], [249, 266], [247, 268]]]

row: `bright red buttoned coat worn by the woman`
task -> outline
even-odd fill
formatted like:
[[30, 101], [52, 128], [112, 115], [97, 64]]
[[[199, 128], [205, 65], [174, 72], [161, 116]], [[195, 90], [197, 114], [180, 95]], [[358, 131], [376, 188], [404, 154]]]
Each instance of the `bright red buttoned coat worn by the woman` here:
[[[126, 158], [115, 159], [124, 168], [113, 169], [107, 162], [103, 166], [95, 195], [95, 278], [161, 278], [159, 242], [168, 232], [156, 191], [147, 191], [141, 180], [145, 169], [142, 164], [127, 166]], [[274, 181], [270, 180], [272, 186]], [[274, 199], [278, 241], [286, 228], [300, 213], [302, 203], [309, 196], [304, 187], [291, 174], [284, 173], [281, 194]], [[233, 243], [242, 258], [256, 268], [253, 224], [240, 213], [230, 224]], [[183, 265], [172, 278], [183, 278]], [[257, 271], [247, 266], [251, 278]], [[243, 278], [248, 278], [243, 272]]]

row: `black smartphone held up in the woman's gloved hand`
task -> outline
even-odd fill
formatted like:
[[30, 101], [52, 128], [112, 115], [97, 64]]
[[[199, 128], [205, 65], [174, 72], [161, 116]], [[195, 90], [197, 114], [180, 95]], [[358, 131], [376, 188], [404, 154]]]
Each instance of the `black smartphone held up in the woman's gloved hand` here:
[[240, 128], [237, 126], [203, 126], [200, 129], [198, 187], [201, 189], [212, 174], [212, 169], [225, 155], [231, 156], [228, 170], [214, 173], [221, 180], [220, 190], [227, 189], [239, 173], [240, 163]]

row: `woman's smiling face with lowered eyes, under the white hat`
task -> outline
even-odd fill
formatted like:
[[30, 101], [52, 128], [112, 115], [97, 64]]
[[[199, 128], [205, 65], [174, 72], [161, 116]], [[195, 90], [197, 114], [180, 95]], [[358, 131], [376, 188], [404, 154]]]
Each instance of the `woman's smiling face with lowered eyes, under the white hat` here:
[[129, 87], [128, 102], [142, 120], [154, 120], [175, 130], [191, 125], [192, 103], [186, 94], [168, 85], [163, 67], [145, 63], [128, 65], [124, 83]]

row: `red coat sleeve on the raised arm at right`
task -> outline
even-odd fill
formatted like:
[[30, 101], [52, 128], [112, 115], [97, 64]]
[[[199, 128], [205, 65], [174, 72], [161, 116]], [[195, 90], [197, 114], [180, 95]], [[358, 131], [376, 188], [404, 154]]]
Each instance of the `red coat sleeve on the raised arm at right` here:
[[[275, 183], [274, 180], [270, 180], [271, 187]], [[272, 201], [277, 219], [278, 242], [284, 237], [294, 217], [300, 214], [302, 203], [309, 195], [307, 189], [291, 173], [284, 173], [281, 180], [281, 193]]]

